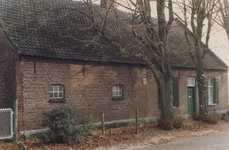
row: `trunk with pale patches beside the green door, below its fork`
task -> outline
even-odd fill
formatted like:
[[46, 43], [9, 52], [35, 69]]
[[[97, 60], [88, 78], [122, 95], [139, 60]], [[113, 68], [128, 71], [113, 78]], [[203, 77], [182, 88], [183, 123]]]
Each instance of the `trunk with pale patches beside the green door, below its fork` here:
[[198, 61], [197, 66], [197, 83], [198, 83], [198, 95], [199, 95], [199, 115], [207, 115], [207, 85], [204, 75], [204, 62], [203, 59]]

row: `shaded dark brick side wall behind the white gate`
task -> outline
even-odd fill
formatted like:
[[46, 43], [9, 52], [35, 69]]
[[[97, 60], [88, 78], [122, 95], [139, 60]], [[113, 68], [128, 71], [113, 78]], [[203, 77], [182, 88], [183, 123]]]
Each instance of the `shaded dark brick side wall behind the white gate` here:
[[12, 108], [15, 99], [16, 50], [0, 29], [0, 108]]

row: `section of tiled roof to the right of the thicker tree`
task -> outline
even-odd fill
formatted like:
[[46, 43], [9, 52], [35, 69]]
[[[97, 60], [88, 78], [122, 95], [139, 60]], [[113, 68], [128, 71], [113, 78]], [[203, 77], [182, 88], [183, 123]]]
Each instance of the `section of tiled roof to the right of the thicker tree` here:
[[[171, 66], [193, 68], [195, 66], [188, 53], [188, 44], [184, 36], [184, 25], [176, 19], [170, 30], [169, 43], [171, 44], [170, 63]], [[191, 51], [194, 53], [194, 37], [188, 30], [189, 40], [192, 43]], [[227, 70], [227, 65], [214, 52], [209, 50], [205, 55], [204, 66], [206, 69]]]

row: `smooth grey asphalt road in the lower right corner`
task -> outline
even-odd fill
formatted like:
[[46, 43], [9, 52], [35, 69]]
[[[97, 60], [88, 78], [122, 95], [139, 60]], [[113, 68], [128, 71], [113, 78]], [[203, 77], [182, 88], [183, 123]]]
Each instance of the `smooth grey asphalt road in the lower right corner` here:
[[209, 134], [135, 150], [229, 150], [229, 132]]

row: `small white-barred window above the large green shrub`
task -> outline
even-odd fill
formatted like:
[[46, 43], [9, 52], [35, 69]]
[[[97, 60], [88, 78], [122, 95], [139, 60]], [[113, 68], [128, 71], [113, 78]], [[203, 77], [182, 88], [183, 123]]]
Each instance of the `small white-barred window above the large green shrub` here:
[[[61, 90], [62, 88], [62, 90]], [[52, 94], [52, 96], [51, 96]], [[57, 96], [55, 96], [57, 94]], [[60, 96], [62, 94], [62, 96]], [[63, 99], [64, 98], [64, 86], [63, 85], [51, 85], [49, 86], [49, 98], [50, 99]]]

